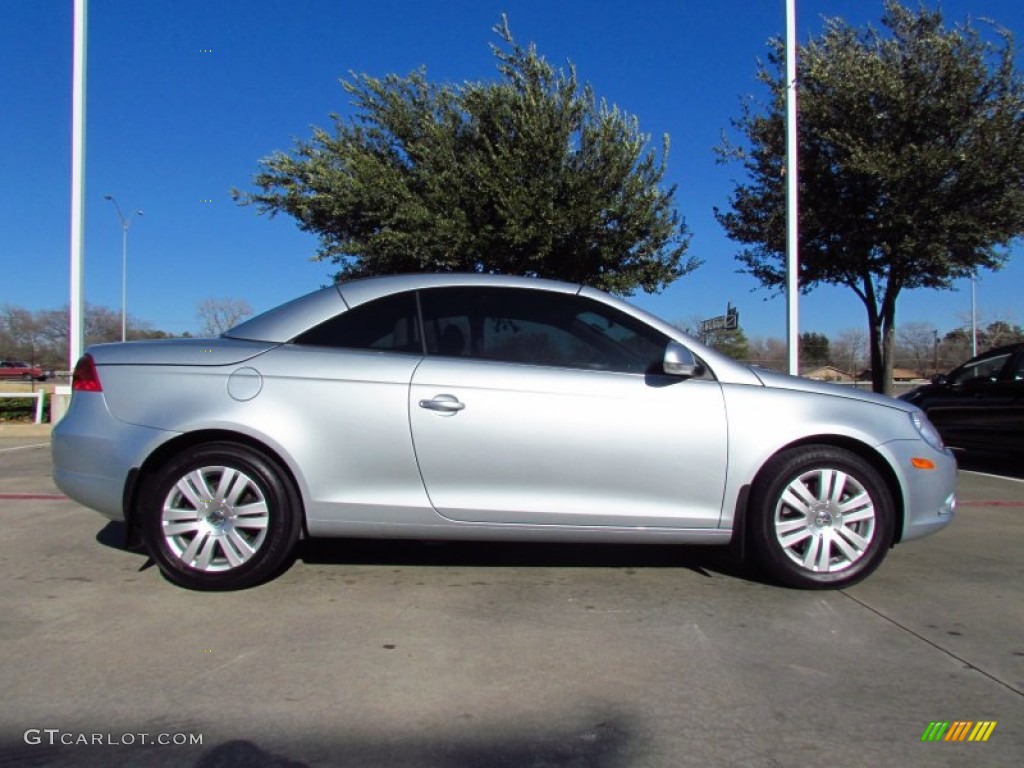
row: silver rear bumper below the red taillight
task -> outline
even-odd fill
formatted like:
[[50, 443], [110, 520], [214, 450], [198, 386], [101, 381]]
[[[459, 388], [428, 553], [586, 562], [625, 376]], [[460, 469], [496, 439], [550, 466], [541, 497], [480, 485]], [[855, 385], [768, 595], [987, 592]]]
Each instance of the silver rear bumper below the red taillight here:
[[76, 392], [53, 428], [53, 481], [70, 498], [112, 520], [124, 520], [132, 469], [176, 433], [119, 421], [99, 392]]

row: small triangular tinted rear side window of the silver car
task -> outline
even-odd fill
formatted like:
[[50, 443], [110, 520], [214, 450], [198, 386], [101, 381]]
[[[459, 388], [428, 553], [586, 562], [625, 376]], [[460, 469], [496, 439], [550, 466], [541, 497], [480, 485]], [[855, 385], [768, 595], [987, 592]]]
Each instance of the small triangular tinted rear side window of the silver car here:
[[422, 354], [416, 315], [414, 291], [385, 296], [335, 315], [293, 343]]

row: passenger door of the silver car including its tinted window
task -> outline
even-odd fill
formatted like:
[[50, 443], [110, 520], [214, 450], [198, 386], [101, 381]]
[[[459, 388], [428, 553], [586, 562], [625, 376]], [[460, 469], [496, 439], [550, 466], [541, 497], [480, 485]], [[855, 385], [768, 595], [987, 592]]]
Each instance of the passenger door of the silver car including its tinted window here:
[[410, 391], [427, 495], [453, 520], [715, 527], [721, 387], [668, 377], [668, 341], [593, 299], [421, 292], [428, 355]]

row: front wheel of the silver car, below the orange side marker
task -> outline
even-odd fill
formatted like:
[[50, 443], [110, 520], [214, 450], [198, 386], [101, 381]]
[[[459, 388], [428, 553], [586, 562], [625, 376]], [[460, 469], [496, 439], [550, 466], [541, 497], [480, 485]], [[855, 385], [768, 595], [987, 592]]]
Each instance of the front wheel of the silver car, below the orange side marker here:
[[849, 451], [808, 445], [774, 457], [751, 488], [753, 553], [791, 587], [838, 589], [873, 571], [892, 546], [885, 480]]

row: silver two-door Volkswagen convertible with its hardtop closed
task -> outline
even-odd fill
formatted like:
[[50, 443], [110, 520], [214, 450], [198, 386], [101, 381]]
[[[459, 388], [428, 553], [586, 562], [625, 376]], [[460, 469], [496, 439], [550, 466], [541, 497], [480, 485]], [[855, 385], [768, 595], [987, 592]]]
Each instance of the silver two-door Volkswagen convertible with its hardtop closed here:
[[194, 589], [265, 581], [300, 537], [732, 543], [839, 588], [955, 506], [914, 406], [528, 278], [345, 283], [218, 339], [90, 347], [73, 388], [57, 485]]

